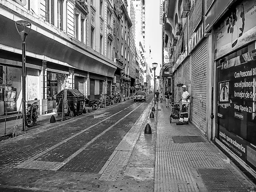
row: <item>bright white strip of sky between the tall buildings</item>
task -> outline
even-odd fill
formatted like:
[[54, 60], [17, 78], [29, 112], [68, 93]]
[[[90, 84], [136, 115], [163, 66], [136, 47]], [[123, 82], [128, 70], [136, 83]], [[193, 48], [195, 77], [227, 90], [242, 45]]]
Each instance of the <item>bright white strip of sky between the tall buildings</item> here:
[[[145, 0], [145, 49], [150, 58], [146, 60], [152, 68], [152, 63], [158, 63], [156, 76], [159, 76], [162, 65], [162, 25], [160, 25], [160, 0]], [[151, 59], [152, 58], [152, 59]]]

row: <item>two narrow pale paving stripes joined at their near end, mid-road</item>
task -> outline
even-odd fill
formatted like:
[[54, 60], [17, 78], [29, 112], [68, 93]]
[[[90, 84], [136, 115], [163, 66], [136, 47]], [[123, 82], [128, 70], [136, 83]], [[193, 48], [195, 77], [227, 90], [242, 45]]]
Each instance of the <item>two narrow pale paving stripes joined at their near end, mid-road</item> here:
[[[139, 108], [140, 106], [136, 107], [134, 110], [136, 110], [137, 108]], [[112, 126], [110, 126], [109, 128], [107, 128], [106, 130], [104, 130], [103, 132], [101, 132], [100, 134], [98, 134], [96, 137], [94, 137], [90, 142], [88, 142], [87, 144], [85, 144], [82, 148], [80, 148], [79, 150], [77, 150], [75, 153], [73, 153], [71, 156], [69, 156], [68, 158], [66, 158], [63, 162], [48, 162], [48, 164], [46, 164], [46, 166], [39, 166], [40, 169], [45, 169], [45, 170], [58, 170], [60, 169], [62, 166], [64, 166], [65, 164], [67, 164], [68, 162], [70, 162], [70, 160], [72, 160], [74, 157], [76, 157], [78, 154], [80, 154], [83, 150], [85, 150], [87, 148], [88, 145], [92, 144], [92, 142], [94, 142], [96, 139], [98, 139], [100, 136], [102, 136], [104, 133], [106, 133], [108, 130], [110, 130], [112, 127], [114, 127], [116, 124], [118, 124], [120, 121], [122, 121], [124, 118], [126, 118], [128, 115], [130, 115], [134, 110], [132, 110], [131, 112], [129, 112], [128, 114], [126, 114], [123, 118], [121, 118], [120, 120], [118, 120], [115, 124], [113, 124]], [[120, 113], [122, 111], [117, 112], [116, 114]], [[113, 114], [112, 116], [116, 115]], [[63, 140], [62, 142], [59, 142], [58, 144], [48, 148], [47, 150], [44, 150], [43, 152], [37, 154], [36, 156], [34, 156], [33, 158], [30, 158], [29, 160], [26, 160], [25, 162], [23, 162], [22, 164], [19, 164], [18, 166], [16, 166], [16, 168], [25, 168], [30, 166], [31, 168], [34, 168], [36, 166], [36, 163], [33, 161], [36, 158], [42, 156], [43, 154], [46, 154], [47, 152], [49, 152], [50, 150], [58, 147], [59, 145], [67, 142], [68, 140], [75, 138], [76, 136], [82, 134], [83, 132], [89, 130], [90, 128], [104, 122], [105, 120], [111, 118], [112, 116], [109, 116], [108, 118], [86, 128], [85, 130], [82, 130], [80, 132], [78, 132], [77, 134], [74, 134], [73, 136]], [[38, 162], [38, 161], [36, 161]], [[42, 161], [45, 162], [45, 161]], [[54, 166], [53, 166], [54, 165]]]

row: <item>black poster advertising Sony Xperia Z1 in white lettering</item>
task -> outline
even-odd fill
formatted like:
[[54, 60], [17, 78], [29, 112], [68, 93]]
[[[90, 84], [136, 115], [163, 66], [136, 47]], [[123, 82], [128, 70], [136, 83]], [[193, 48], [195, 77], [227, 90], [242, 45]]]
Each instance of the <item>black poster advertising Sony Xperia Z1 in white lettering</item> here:
[[220, 60], [216, 72], [218, 126], [256, 145], [256, 50]]

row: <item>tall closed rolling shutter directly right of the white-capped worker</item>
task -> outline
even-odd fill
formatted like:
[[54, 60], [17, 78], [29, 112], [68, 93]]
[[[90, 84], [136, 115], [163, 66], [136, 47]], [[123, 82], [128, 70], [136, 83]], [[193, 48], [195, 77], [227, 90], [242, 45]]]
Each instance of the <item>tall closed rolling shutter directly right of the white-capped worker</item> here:
[[[206, 64], [207, 40], [192, 52], [191, 120], [206, 133]], [[200, 102], [202, 99], [202, 103]]]

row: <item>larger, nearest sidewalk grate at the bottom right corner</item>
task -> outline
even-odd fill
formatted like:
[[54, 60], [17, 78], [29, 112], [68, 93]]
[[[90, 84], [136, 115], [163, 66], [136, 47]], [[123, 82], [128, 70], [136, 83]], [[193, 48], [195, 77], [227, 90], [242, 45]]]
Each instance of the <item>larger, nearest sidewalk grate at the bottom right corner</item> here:
[[229, 169], [197, 169], [207, 192], [247, 192]]

